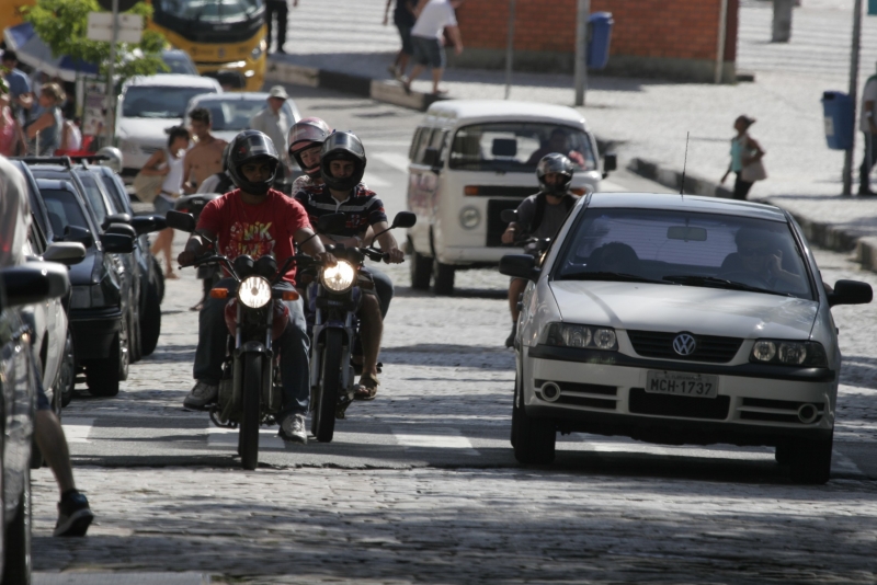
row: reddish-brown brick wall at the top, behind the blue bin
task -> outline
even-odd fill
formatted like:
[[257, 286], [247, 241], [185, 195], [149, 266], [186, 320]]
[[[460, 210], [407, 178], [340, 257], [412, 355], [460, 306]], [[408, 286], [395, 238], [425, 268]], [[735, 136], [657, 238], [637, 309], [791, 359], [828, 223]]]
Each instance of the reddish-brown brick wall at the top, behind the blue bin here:
[[[591, 0], [591, 12], [613, 15], [612, 56], [705, 62], [716, 59], [720, 5], [720, 0]], [[577, 0], [517, 0], [515, 51], [571, 56], [576, 7]], [[739, 0], [728, 1], [726, 61], [736, 58], [738, 8]], [[457, 20], [467, 50], [505, 49], [509, 0], [468, 0]]]

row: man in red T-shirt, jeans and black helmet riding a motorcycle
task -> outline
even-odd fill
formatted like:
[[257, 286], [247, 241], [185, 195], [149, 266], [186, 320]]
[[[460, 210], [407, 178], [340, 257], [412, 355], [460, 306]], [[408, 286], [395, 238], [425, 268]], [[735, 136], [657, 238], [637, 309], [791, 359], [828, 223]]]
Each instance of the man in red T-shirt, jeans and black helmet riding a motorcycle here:
[[[271, 188], [280, 164], [274, 144], [258, 130], [243, 130], [228, 151], [228, 173], [239, 188], [208, 203], [201, 213], [197, 229], [180, 253], [179, 262], [189, 266], [207, 250], [206, 239], [216, 241], [219, 254], [234, 260], [249, 254], [253, 260], [272, 253], [278, 265], [295, 254], [295, 243], [321, 262], [334, 263], [319, 238], [310, 238], [308, 216], [301, 206], [280, 191]], [[295, 267], [284, 276], [293, 289]], [[217, 286], [237, 287], [232, 278]], [[196, 380], [184, 405], [203, 409], [216, 401], [226, 355], [225, 299], [208, 299], [198, 319], [198, 346], [193, 368]], [[301, 300], [284, 301], [289, 323], [277, 340], [282, 351], [281, 378], [283, 408], [277, 416], [280, 435], [285, 440], [307, 443], [305, 414], [308, 408], [308, 335]]]

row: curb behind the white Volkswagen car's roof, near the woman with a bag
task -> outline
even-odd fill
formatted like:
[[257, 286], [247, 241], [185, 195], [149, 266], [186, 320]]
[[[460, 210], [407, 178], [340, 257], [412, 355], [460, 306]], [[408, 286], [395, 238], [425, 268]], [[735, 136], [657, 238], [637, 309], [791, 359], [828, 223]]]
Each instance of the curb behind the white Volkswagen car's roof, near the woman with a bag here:
[[[627, 169], [645, 179], [660, 183], [665, 187], [681, 190], [682, 173], [672, 169], [664, 169], [660, 164], [643, 159], [635, 158], [630, 161]], [[703, 195], [705, 197], [731, 198], [731, 191], [711, 181], [706, 181], [691, 174], [685, 175], [685, 193], [690, 195]], [[770, 197], [765, 199], [771, 203]], [[782, 207], [777, 205], [777, 207]], [[835, 252], [855, 251], [855, 261], [863, 268], [877, 272], [877, 238], [866, 237], [855, 231], [840, 228], [834, 223], [816, 221], [795, 211], [788, 211], [795, 221], [800, 225], [807, 239], [821, 248], [827, 248]]]

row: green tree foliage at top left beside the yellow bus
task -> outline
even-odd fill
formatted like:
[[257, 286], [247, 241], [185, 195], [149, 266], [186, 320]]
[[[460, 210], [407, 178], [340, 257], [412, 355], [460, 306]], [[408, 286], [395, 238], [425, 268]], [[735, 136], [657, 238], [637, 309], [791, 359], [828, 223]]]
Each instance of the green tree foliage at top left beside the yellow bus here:
[[[55, 57], [68, 55], [75, 60], [96, 64], [101, 76], [110, 68], [110, 43], [91, 41], [86, 35], [89, 12], [103, 12], [98, 0], [38, 0], [36, 5], [22, 7], [25, 22], [30, 22], [36, 34], [48, 45]], [[127, 14], [138, 14], [148, 20], [152, 7], [137, 2]], [[116, 43], [115, 74], [119, 81], [134, 76], [151, 76], [168, 68], [161, 60], [164, 35], [144, 30], [137, 44]]]

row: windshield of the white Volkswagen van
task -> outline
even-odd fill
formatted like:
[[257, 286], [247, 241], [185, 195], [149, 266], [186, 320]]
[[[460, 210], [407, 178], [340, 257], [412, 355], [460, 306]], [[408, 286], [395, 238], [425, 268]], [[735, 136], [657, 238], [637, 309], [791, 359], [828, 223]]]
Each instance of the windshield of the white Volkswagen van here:
[[581, 128], [544, 123], [465, 126], [454, 136], [449, 163], [459, 170], [532, 174], [551, 152], [568, 156], [579, 171], [596, 169], [591, 140]]

